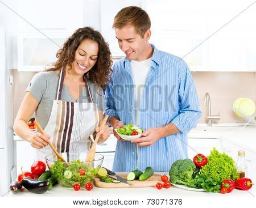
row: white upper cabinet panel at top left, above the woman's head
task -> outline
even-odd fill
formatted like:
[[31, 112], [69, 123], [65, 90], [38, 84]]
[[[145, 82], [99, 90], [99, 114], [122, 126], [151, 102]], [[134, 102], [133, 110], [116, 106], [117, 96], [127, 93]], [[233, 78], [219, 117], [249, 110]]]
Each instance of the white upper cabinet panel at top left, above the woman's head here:
[[75, 31], [82, 27], [83, 1], [19, 0], [19, 32]]

